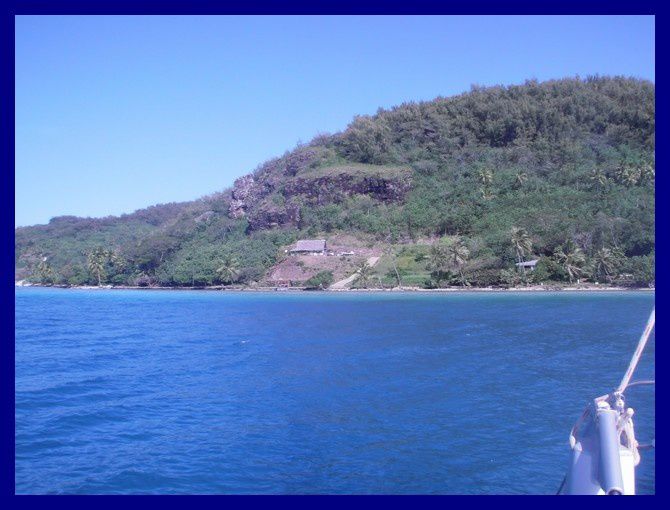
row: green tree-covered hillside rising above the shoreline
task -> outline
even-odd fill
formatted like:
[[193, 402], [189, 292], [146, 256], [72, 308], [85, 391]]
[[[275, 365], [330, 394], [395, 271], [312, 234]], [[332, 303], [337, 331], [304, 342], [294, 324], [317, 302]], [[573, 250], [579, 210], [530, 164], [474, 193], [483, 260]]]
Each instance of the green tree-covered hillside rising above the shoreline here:
[[[650, 82], [596, 77], [380, 110], [199, 200], [18, 228], [16, 279], [262, 284], [295, 240], [346, 234], [383, 253], [379, 278], [358, 286], [403, 271], [426, 287], [647, 286], [654, 100]], [[530, 259], [531, 274], [516, 269]]]

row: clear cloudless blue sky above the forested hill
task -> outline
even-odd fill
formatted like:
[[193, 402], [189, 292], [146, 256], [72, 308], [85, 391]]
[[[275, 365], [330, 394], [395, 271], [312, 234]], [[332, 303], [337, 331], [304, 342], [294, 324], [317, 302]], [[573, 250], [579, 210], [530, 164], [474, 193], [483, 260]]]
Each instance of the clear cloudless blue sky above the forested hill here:
[[16, 225], [222, 190], [356, 114], [566, 76], [654, 80], [647, 17], [16, 18]]

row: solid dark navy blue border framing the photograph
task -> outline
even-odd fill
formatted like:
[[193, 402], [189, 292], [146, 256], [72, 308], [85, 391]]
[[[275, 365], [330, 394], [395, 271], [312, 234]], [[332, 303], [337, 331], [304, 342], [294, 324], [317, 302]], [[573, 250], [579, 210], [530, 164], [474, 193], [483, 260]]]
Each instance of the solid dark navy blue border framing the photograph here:
[[[0, 158], [2, 164], [0, 165], [1, 185], [0, 185], [0, 218], [2, 219], [1, 242], [3, 249], [0, 250], [0, 261], [4, 271], [4, 277], [0, 280], [0, 325], [2, 327], [2, 334], [0, 335], [0, 497], [6, 505], [11, 507], [23, 507], [39, 505], [46, 503], [49, 506], [67, 506], [68, 508], [88, 506], [92, 503], [89, 497], [95, 497], [96, 505], [102, 504], [111, 505], [115, 500], [109, 499], [111, 496], [15, 496], [15, 479], [14, 479], [14, 458], [15, 458], [15, 444], [14, 444], [14, 285], [8, 275], [14, 272], [14, 16], [22, 14], [647, 14], [656, 16], [656, 34], [657, 34], [657, 48], [662, 50], [664, 48], [663, 39], [666, 38], [664, 28], [667, 27], [665, 23], [665, 15], [661, 9], [661, 2], [638, 0], [637, 2], [625, 1], [576, 1], [563, 0], [546, 1], [542, 0], [509, 0], [502, 2], [500, 0], [479, 0], [474, 3], [467, 3], [461, 0], [458, 3], [448, 3], [438, 0], [413, 0], [412, 2], [400, 3], [388, 1], [367, 1], [361, 0], [323, 0], [308, 2], [306, 0], [281, 2], [256, 0], [253, 3], [230, 3], [217, 2], [214, 0], [191, 0], [191, 2], [183, 0], [92, 0], [89, 2], [83, 0], [9, 0], [7, 4], [3, 4], [1, 8], [0, 21], [0, 40], [2, 41], [2, 109], [0, 110], [2, 116], [2, 152]], [[657, 119], [668, 119], [670, 108], [670, 99], [664, 94], [666, 83], [666, 71], [662, 65], [662, 58], [657, 57], [656, 65], [656, 84], [657, 91], [660, 84], [660, 93], [656, 95], [656, 116]], [[666, 140], [667, 128], [665, 122], [657, 122], [656, 139], [661, 142]], [[664, 143], [657, 144], [656, 160], [657, 168], [662, 170], [656, 175], [656, 190], [664, 191], [668, 189], [666, 181], [668, 177], [665, 176], [665, 164], [668, 161], [666, 156], [666, 147]], [[668, 242], [662, 235], [665, 218], [668, 214], [668, 202], [661, 201], [657, 204], [657, 220], [656, 220], [656, 242], [657, 254], [665, 253], [665, 244]], [[657, 260], [659, 260], [657, 258]], [[665, 292], [658, 288], [665, 289], [667, 281], [668, 269], [664, 264], [657, 264], [656, 282], [657, 282], [657, 301], [660, 301], [659, 307], [661, 316], [661, 335], [658, 334], [658, 327], [656, 338], [657, 340], [663, 336], [663, 301]], [[657, 350], [661, 351], [660, 358], [664, 358], [663, 352], [665, 341], [660, 338], [656, 342]], [[659, 356], [657, 356], [659, 359]], [[658, 379], [658, 384], [665, 385], [663, 377]], [[663, 394], [663, 393], [661, 393]], [[663, 420], [662, 407], [657, 409], [657, 421]], [[660, 418], [659, 418], [660, 417]], [[659, 442], [661, 450], [667, 450], [667, 440]], [[664, 454], [661, 455], [663, 457]], [[664, 462], [658, 461], [657, 455], [657, 496], [654, 498], [643, 498], [636, 500], [635, 505], [655, 504], [658, 496], [663, 497], [665, 494], [665, 487], [662, 483], [664, 479]], [[658, 476], [658, 475], [661, 476]], [[659, 483], [661, 482], [661, 483]], [[192, 503], [190, 498], [194, 496], [183, 496], [177, 498], [167, 498], [165, 496], [126, 496], [123, 504], [130, 504], [131, 506], [140, 504], [161, 504], [172, 506], [180, 502], [189, 504]], [[226, 499], [220, 500], [223, 497]], [[313, 497], [305, 496], [279, 496], [267, 499], [269, 496], [258, 496], [253, 499], [241, 499], [242, 496], [203, 496], [197, 500], [197, 504], [203, 506], [219, 506], [221, 503], [232, 505], [246, 505], [246, 504], [268, 504], [268, 505], [286, 505], [291, 507], [312, 506], [319, 505], [335, 505], [341, 503], [341, 500], [335, 499], [337, 496], [317, 496], [319, 501], [315, 501]], [[142, 498], [141, 500], [138, 498]], [[147, 499], [149, 498], [149, 499]], [[161, 498], [158, 500], [157, 498]], [[184, 498], [187, 498], [186, 500]], [[410, 498], [408, 501], [407, 498]], [[626, 500], [609, 501], [605, 503], [602, 499], [590, 499], [587, 503], [592, 505], [604, 505], [608, 507], [623, 506]], [[401, 503], [419, 504], [425, 507], [442, 506], [445, 500], [442, 497], [428, 497], [428, 496], [367, 496], [355, 497], [354, 500], [348, 499], [347, 504], [354, 505], [379, 505], [379, 506], [394, 506]], [[565, 505], [565, 500], [552, 499], [550, 501], [543, 501], [542, 504], [550, 505]], [[583, 499], [572, 499], [573, 504], [584, 503]], [[519, 504], [519, 500], [515, 499], [514, 505]], [[534, 498], [524, 498], [521, 501], [522, 505], [537, 504]]]

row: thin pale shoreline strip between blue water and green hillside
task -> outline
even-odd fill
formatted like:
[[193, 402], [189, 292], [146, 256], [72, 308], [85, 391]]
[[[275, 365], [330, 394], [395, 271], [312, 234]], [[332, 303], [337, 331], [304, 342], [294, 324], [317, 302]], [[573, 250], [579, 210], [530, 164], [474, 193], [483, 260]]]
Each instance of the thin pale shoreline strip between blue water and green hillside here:
[[527, 287], [447, 287], [440, 289], [424, 289], [421, 287], [394, 287], [385, 289], [306, 289], [303, 287], [139, 287], [132, 285], [39, 285], [16, 284], [15, 287], [44, 288], [64, 290], [150, 290], [150, 291], [203, 291], [203, 292], [308, 292], [308, 293], [523, 293], [523, 292], [655, 292], [655, 287], [617, 287], [605, 285], [531, 285]]

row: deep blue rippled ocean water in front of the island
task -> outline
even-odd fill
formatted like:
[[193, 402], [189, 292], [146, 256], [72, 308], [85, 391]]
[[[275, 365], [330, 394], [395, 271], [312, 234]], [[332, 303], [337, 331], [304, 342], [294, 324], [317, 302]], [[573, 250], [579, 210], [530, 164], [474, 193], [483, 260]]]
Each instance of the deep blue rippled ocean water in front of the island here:
[[[653, 304], [17, 289], [16, 492], [552, 494]], [[654, 399], [628, 395], [641, 442]]]

